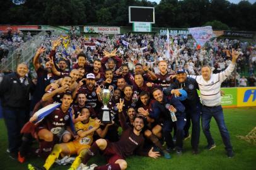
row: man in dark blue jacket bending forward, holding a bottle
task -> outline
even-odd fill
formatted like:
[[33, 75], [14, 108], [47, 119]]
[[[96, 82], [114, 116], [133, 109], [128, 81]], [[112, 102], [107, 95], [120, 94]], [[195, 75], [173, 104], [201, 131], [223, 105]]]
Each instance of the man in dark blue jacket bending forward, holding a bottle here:
[[[163, 94], [160, 88], [153, 89], [153, 97], [156, 99], [156, 102], [153, 103], [153, 111], [151, 111], [150, 116], [160, 124], [163, 124], [163, 136], [165, 137], [168, 150], [174, 149], [175, 147], [171, 132], [174, 126], [177, 127], [176, 149], [177, 154], [182, 154], [183, 128], [186, 124], [185, 107], [174, 96], [166, 96]], [[177, 118], [176, 123], [173, 122], [170, 111], [175, 113]]]

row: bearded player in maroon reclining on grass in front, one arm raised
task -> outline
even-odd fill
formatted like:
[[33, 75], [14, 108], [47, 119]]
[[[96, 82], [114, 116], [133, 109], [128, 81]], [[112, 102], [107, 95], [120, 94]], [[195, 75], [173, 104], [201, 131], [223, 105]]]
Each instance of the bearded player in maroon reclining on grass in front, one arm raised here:
[[107, 157], [108, 164], [104, 166], [96, 166], [93, 164], [84, 169], [126, 169], [127, 162], [125, 161], [125, 157], [133, 155], [134, 151], [141, 156], [149, 156], [153, 158], [160, 156], [159, 152], [153, 151], [153, 148], [149, 151], [147, 150], [146, 152], [142, 150], [144, 137], [141, 130], [143, 130], [145, 120], [143, 116], [136, 116], [134, 119], [133, 128], [130, 127], [125, 122], [125, 116], [122, 111], [123, 106], [124, 101], [120, 99], [120, 103], [117, 103], [120, 125], [123, 130], [120, 140], [117, 142], [109, 142], [105, 139], [98, 139], [93, 143], [93, 145], [91, 145], [91, 148], [88, 149], [86, 154], [84, 154], [82, 157], [83, 164], [86, 164], [92, 156], [95, 156], [96, 153], [101, 150], [103, 156]]

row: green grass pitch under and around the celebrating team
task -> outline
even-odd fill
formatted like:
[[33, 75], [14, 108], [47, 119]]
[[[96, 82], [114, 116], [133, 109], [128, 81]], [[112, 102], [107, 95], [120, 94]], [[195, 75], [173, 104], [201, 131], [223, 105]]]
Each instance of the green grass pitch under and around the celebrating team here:
[[[127, 169], [256, 169], [256, 145], [252, 145], [244, 140], [238, 139], [236, 135], [247, 135], [253, 127], [256, 127], [256, 108], [229, 108], [224, 109], [226, 126], [230, 132], [231, 143], [235, 152], [235, 157], [228, 158], [224, 150], [218, 127], [214, 119], [211, 121], [211, 132], [217, 147], [212, 150], [204, 150], [206, 138], [201, 130], [199, 154], [192, 155], [190, 139], [184, 142], [184, 151], [181, 156], [171, 153], [172, 159], [152, 159], [149, 157], [132, 156], [127, 158]], [[27, 169], [28, 163], [42, 166], [44, 161], [38, 157], [30, 157], [25, 163], [20, 164], [8, 157], [7, 134], [4, 120], [0, 120], [0, 169], [16, 170]], [[102, 156], [96, 156], [88, 162], [89, 164], [105, 164]], [[52, 169], [68, 169], [69, 166], [54, 166]]]

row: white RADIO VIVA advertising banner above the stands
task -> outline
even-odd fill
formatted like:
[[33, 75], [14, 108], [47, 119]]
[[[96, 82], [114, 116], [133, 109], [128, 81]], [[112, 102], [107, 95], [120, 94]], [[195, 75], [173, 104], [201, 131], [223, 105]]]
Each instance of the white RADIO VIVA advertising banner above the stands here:
[[116, 26], [84, 26], [84, 33], [120, 34], [120, 27], [116, 27]]

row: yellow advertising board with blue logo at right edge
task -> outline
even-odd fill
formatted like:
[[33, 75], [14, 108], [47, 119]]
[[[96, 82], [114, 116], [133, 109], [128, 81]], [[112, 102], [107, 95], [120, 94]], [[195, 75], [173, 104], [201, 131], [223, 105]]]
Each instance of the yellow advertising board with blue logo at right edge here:
[[237, 106], [256, 106], [256, 87], [237, 88]]

